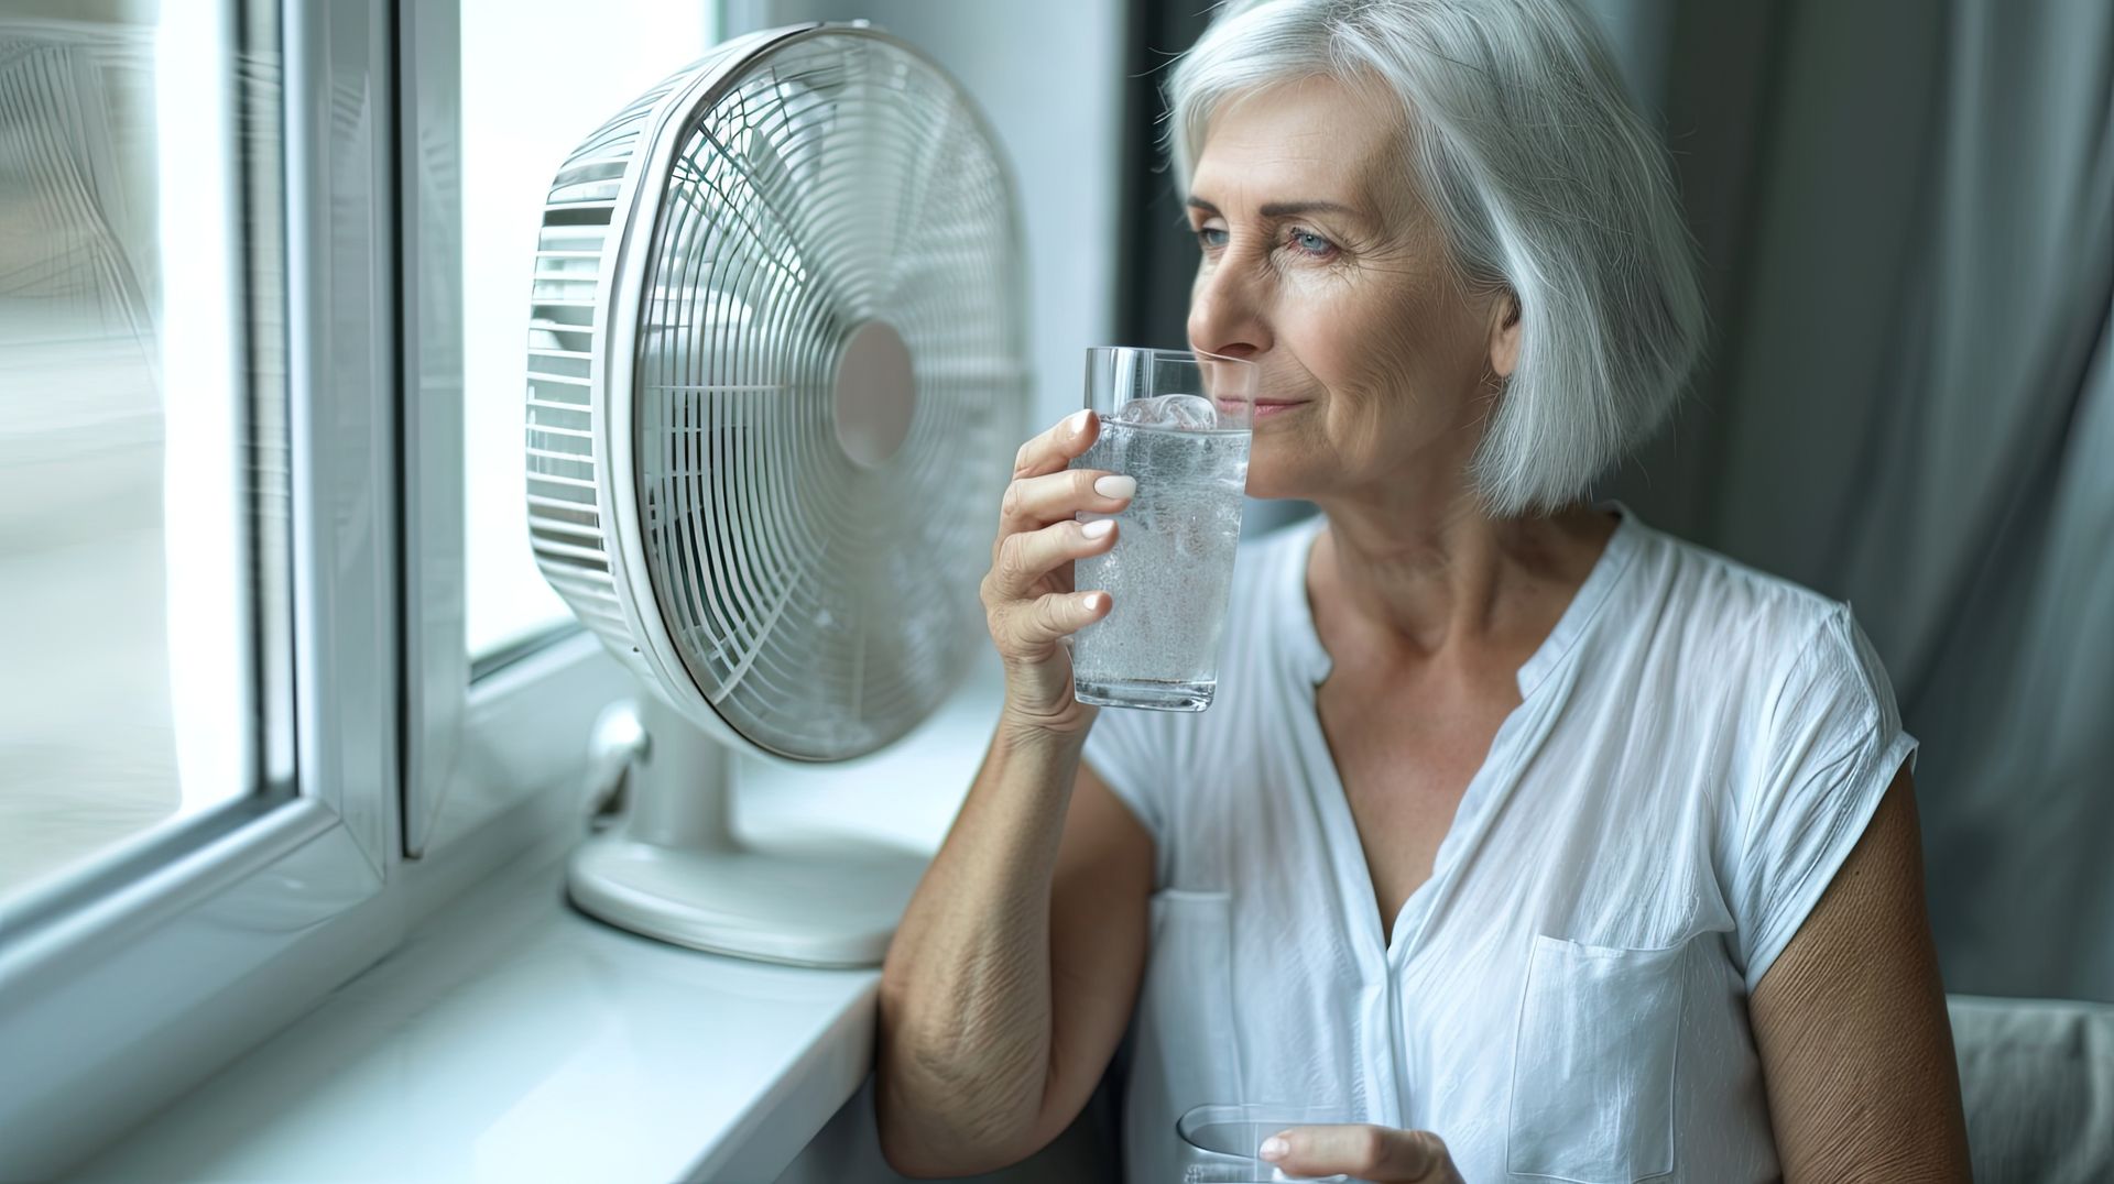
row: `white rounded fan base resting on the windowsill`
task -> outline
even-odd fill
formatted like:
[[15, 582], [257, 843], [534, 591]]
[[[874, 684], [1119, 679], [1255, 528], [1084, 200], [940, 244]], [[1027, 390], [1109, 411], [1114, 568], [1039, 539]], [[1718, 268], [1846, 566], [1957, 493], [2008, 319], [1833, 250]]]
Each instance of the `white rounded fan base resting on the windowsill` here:
[[613, 831], [571, 856], [573, 903], [674, 945], [789, 966], [879, 966], [926, 858], [858, 841], [670, 848]]

